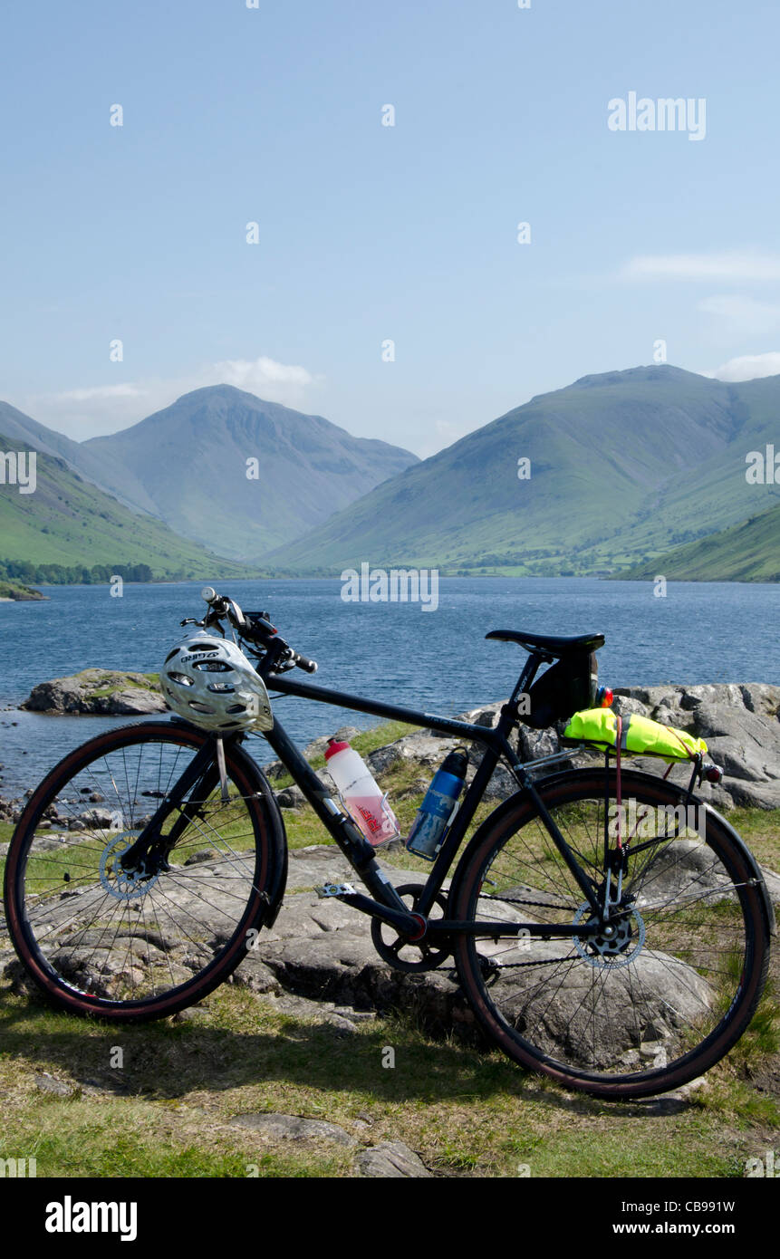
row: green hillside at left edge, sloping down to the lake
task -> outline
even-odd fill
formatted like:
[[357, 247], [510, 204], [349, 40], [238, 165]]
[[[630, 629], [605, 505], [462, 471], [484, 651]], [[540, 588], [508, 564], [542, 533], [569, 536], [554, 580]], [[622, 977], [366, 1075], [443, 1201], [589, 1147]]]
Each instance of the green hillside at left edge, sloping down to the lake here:
[[[3, 451], [30, 451], [0, 433]], [[38, 451], [34, 494], [0, 485], [0, 562], [33, 565], [147, 564], [158, 578], [243, 577], [249, 570], [178, 538], [152, 516], [136, 515], [63, 458]], [[256, 570], [252, 570], [255, 575]]]

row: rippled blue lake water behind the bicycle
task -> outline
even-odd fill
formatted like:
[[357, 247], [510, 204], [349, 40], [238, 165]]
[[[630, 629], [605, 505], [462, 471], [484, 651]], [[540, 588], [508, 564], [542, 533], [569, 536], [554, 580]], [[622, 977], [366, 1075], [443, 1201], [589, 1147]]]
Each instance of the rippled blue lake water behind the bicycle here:
[[[0, 708], [15, 708], [37, 682], [91, 666], [158, 671], [184, 633], [179, 621], [203, 614], [202, 584], [126, 584], [122, 598], [106, 585], [47, 587], [48, 602], [0, 603]], [[333, 579], [215, 584], [242, 607], [268, 611], [280, 633], [319, 662], [307, 680], [446, 715], [504, 699], [517, 680], [524, 652], [485, 642], [489, 630], [604, 633], [599, 671], [612, 686], [780, 684], [780, 585], [680, 582], [655, 598], [651, 582], [442, 578], [437, 609], [423, 612], [345, 603]], [[343, 724], [376, 724], [292, 696], [275, 711], [301, 743]], [[35, 786], [71, 748], [127, 720], [0, 713], [0, 791]]]

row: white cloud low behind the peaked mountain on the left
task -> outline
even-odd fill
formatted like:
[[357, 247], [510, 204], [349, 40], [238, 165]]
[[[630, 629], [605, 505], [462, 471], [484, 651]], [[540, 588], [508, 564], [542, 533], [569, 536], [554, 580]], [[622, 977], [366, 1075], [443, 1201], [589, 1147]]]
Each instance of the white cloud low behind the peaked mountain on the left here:
[[81, 442], [87, 437], [116, 433], [139, 419], [163, 410], [181, 394], [207, 385], [228, 384], [257, 394], [266, 402], [306, 407], [307, 394], [321, 384], [306, 368], [257, 359], [226, 359], [210, 363], [189, 376], [146, 379], [116, 385], [87, 385], [55, 394], [32, 394], [16, 403], [21, 410], [49, 428]]

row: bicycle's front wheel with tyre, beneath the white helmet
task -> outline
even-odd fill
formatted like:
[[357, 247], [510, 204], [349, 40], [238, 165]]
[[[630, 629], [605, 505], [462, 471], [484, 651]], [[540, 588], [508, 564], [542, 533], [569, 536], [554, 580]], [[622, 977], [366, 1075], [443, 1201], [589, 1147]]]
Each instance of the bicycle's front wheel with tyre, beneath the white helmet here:
[[226, 747], [170, 811], [158, 872], [121, 856], [205, 735], [152, 721], [98, 735], [66, 757], [28, 803], [5, 869], [8, 928], [35, 983], [79, 1015], [140, 1021], [174, 1013], [222, 983], [257, 942], [284, 891], [278, 810], [255, 763]]

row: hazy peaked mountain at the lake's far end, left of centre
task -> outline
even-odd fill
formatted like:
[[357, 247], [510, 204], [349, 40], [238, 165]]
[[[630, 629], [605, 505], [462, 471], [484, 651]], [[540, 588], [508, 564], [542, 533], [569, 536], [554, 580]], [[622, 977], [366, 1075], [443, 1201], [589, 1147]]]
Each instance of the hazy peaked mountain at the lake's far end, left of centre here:
[[[105, 488], [234, 558], [300, 536], [418, 462], [231, 385], [184, 394], [81, 449], [100, 463]], [[247, 476], [255, 471], [257, 478]]]

